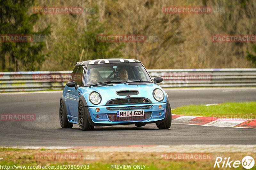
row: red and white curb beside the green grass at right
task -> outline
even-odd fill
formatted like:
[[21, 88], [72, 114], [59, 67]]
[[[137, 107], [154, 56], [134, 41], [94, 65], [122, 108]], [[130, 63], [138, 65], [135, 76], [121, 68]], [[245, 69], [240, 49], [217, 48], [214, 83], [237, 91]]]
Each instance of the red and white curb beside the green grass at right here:
[[184, 116], [172, 114], [172, 124], [256, 128], [256, 119]]

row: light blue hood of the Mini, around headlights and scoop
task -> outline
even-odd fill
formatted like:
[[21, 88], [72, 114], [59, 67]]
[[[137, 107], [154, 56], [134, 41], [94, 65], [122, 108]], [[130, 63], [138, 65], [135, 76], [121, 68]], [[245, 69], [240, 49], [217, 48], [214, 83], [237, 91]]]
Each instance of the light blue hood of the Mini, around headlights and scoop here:
[[[164, 92], [164, 100], [161, 102], [156, 101], [156, 99], [153, 97], [153, 91], [154, 89], [161, 89]], [[119, 96], [116, 92], [117, 91], [129, 91], [129, 90], [138, 90], [137, 95], [125, 95], [125, 96]], [[111, 84], [110, 86], [95, 86], [95, 87], [83, 87], [81, 88], [81, 92], [87, 102], [88, 106], [96, 106], [93, 105], [89, 101], [89, 95], [91, 92], [96, 91], [101, 96], [101, 102], [98, 104], [98, 106], [104, 106], [106, 103], [108, 103], [111, 99], [118, 99], [118, 98], [147, 98], [152, 103], [165, 103], [166, 102], [166, 93], [163, 88], [158, 86], [155, 83], [130, 83], [130, 84]]]

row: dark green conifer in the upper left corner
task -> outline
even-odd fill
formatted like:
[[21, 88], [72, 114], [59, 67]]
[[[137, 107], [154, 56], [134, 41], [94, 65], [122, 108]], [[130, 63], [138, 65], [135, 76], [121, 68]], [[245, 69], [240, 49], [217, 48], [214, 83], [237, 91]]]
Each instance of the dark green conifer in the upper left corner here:
[[[33, 4], [34, 0], [1, 0], [0, 34], [49, 35], [51, 33], [50, 25], [42, 31], [33, 31], [33, 27], [39, 19], [39, 15], [37, 14], [28, 14], [28, 9]], [[2, 70], [39, 70], [45, 60], [45, 54], [41, 53], [44, 46], [45, 42], [1, 42], [0, 58], [2, 61]], [[11, 67], [6, 68], [7, 60], [11, 63]]]

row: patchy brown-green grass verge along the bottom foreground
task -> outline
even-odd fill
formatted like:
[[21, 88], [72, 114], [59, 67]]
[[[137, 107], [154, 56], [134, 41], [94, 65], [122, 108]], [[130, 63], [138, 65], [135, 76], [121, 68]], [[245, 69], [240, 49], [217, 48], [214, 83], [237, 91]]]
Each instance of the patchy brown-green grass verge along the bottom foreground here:
[[[36, 154], [53, 154], [53, 153], [76, 153], [82, 154], [81, 160], [49, 160], [42, 157], [41, 160], [36, 160]], [[146, 170], [180, 170], [180, 169], [214, 169], [214, 163], [217, 156], [222, 158], [230, 157], [231, 160], [239, 160], [245, 156], [256, 157], [256, 153], [234, 153], [234, 152], [224, 152], [224, 153], [208, 153], [212, 155], [210, 160], [165, 160], [162, 155], [166, 153], [157, 152], [85, 152], [83, 149], [64, 149], [64, 150], [54, 150], [54, 149], [1, 149], [0, 153], [0, 167], [3, 166], [12, 167], [15, 166], [55, 166], [53, 169], [88, 169], [88, 166], [83, 166], [83, 168], [74, 168], [75, 165], [89, 165], [89, 169], [92, 170], [105, 170], [105, 169], [117, 169], [113, 168], [113, 165], [131, 165], [128, 169], [146, 169]], [[192, 153], [193, 154], [193, 153]], [[50, 157], [47, 157], [50, 158]], [[52, 157], [51, 157], [52, 158]], [[220, 164], [222, 166], [223, 161]], [[69, 165], [69, 166], [68, 166]], [[72, 166], [73, 165], [73, 168]], [[111, 168], [112, 165], [112, 168]], [[57, 168], [59, 166], [59, 168]], [[64, 168], [60, 168], [63, 166]], [[225, 165], [224, 165], [225, 166]], [[232, 166], [232, 164], [231, 164]], [[65, 168], [66, 167], [66, 168]], [[85, 167], [85, 168], [84, 168]], [[135, 167], [135, 168], [134, 168]], [[119, 167], [120, 168], [120, 167]], [[24, 167], [19, 167], [20, 170], [25, 169]], [[35, 169], [35, 168], [30, 168]], [[42, 168], [41, 168], [42, 169]], [[120, 168], [121, 169], [121, 168]], [[122, 168], [123, 169], [123, 168]], [[223, 168], [215, 168], [223, 169]], [[238, 168], [227, 168], [227, 169], [243, 169], [242, 165]], [[256, 165], [252, 168], [256, 169]]]

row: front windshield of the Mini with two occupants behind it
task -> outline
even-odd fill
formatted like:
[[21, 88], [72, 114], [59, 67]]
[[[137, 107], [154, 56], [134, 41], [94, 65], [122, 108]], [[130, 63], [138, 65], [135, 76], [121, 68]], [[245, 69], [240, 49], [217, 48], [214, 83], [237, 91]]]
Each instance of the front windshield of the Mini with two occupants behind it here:
[[140, 63], [88, 65], [85, 73], [85, 86], [105, 81], [124, 83], [135, 80], [152, 82], [147, 71]]

